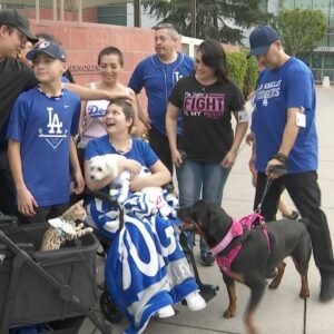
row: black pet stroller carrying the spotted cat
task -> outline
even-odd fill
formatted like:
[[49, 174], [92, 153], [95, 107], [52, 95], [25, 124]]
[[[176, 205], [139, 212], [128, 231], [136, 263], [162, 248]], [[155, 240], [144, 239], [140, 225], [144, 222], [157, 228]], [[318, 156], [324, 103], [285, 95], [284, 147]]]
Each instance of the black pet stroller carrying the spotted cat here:
[[95, 235], [63, 248], [39, 252], [47, 224], [18, 226], [0, 215], [0, 333], [43, 324], [42, 333], [77, 333], [87, 316], [104, 333], [110, 327], [90, 310], [97, 299]]

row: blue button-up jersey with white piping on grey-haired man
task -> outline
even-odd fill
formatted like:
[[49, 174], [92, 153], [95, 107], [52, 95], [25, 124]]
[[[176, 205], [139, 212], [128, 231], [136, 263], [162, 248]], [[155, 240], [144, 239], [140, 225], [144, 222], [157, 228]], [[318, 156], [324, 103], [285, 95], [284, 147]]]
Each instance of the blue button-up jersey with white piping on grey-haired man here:
[[[145, 88], [147, 111], [153, 126], [166, 135], [166, 110], [168, 98], [175, 84], [194, 71], [194, 60], [183, 53], [171, 63], [164, 63], [157, 55], [153, 55], [136, 67], [128, 86], [139, 94]], [[181, 117], [178, 119], [178, 134], [181, 130]]]

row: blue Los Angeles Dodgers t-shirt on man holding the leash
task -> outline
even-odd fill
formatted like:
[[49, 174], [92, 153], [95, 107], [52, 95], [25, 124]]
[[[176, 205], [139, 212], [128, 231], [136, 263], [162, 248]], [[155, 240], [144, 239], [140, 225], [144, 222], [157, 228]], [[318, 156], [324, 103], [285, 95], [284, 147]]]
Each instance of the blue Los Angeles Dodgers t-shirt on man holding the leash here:
[[310, 68], [292, 57], [282, 67], [262, 72], [256, 90], [256, 168], [265, 171], [268, 160], [283, 140], [288, 108], [303, 108], [306, 127], [299, 127], [289, 153], [287, 173], [317, 169], [315, 88]]

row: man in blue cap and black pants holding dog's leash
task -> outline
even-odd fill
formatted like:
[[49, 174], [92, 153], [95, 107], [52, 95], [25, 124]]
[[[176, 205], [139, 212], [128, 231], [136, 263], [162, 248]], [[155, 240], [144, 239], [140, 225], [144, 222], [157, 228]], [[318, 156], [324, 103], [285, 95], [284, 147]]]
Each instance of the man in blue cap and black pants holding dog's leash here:
[[267, 177], [273, 178], [261, 206], [267, 220], [276, 218], [284, 188], [307, 226], [315, 264], [322, 277], [320, 299], [334, 298], [334, 258], [327, 219], [321, 209], [317, 184], [317, 135], [315, 88], [311, 69], [285, 53], [278, 33], [258, 26], [249, 36], [250, 51], [264, 71], [255, 96], [256, 149], [252, 157], [257, 169], [254, 207], [263, 198]]

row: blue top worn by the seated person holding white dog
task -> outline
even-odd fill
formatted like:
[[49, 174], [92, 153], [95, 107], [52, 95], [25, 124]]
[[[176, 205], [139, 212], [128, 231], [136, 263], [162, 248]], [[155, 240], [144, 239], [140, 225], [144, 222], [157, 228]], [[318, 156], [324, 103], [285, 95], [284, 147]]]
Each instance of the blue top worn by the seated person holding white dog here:
[[[104, 156], [108, 154], [119, 154], [109, 143], [109, 136], [91, 139], [88, 141], [85, 150], [85, 160], [89, 160], [95, 156]], [[127, 159], [134, 159], [140, 163], [141, 166], [150, 168], [158, 160], [157, 155], [148, 143], [138, 138], [132, 138], [132, 147], [124, 155]]]

